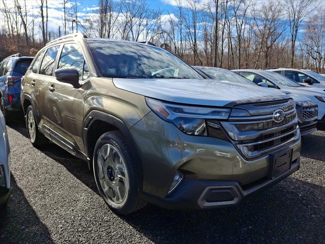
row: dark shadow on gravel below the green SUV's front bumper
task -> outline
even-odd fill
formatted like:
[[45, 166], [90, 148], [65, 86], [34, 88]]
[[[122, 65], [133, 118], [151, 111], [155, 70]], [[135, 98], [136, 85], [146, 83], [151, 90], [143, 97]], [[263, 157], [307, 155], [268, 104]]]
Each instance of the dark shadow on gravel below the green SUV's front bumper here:
[[121, 218], [155, 243], [322, 243], [324, 199], [324, 188], [287, 178], [236, 207], [184, 212], [148, 205]]

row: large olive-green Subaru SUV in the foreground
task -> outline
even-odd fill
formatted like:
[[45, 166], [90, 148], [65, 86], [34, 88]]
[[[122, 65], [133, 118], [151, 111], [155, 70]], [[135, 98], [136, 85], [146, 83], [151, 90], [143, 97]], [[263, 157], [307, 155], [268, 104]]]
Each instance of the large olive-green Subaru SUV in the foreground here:
[[119, 214], [237, 205], [300, 166], [291, 98], [204, 79], [150, 43], [56, 39], [27, 70], [21, 102], [30, 142], [88, 162]]

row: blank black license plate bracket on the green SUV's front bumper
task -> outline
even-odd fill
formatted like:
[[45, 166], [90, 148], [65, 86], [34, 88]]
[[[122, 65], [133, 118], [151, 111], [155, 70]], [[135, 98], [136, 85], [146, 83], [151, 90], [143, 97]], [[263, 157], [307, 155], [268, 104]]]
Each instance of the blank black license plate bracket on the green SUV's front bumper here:
[[285, 173], [291, 167], [293, 158], [293, 149], [282, 150], [279, 153], [270, 155], [270, 167], [268, 176], [270, 179], [274, 179], [277, 176]]

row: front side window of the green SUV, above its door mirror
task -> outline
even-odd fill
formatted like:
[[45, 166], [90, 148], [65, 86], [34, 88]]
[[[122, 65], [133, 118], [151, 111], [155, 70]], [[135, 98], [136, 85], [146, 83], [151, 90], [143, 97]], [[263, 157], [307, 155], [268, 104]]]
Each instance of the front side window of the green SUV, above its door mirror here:
[[75, 68], [79, 72], [80, 80], [88, 78], [89, 69], [85, 64], [85, 72], [83, 72], [84, 56], [78, 44], [65, 44], [63, 46], [58, 65], [58, 69], [61, 68]]

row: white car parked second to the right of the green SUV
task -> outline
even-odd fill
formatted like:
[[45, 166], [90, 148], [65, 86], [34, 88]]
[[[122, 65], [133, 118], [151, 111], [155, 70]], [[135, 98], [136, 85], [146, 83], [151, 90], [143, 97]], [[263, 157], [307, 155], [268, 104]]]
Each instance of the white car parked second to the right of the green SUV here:
[[255, 84], [267, 83], [269, 87], [287, 90], [295, 95], [309, 98], [318, 105], [317, 123], [325, 123], [325, 93], [321, 88], [303, 86], [278, 73], [267, 70], [233, 70], [237, 74], [244, 76]]

